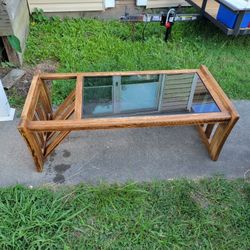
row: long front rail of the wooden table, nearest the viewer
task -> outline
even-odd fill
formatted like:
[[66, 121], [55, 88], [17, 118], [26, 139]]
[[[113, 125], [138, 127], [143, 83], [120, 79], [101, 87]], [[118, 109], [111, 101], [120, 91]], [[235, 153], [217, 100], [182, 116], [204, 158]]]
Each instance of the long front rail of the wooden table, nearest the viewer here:
[[138, 116], [119, 118], [91, 118], [83, 120], [66, 121], [29, 121], [27, 128], [31, 131], [68, 131], [68, 130], [93, 130], [132, 127], [154, 126], [183, 126], [204, 123], [228, 121], [231, 116], [227, 113], [184, 114], [162, 116]]

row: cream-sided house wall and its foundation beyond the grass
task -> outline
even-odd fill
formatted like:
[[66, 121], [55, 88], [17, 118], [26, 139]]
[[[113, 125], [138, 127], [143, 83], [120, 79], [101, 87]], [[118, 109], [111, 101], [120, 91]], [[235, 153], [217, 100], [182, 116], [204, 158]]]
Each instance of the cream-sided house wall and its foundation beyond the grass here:
[[[105, 4], [110, 2], [113, 2], [115, 7], [105, 8]], [[124, 15], [125, 8], [130, 15], [135, 15], [148, 11], [155, 12], [159, 8], [188, 5], [184, 0], [28, 0], [28, 3], [30, 12], [35, 8], [43, 9], [47, 16], [101, 19], [117, 19]], [[146, 8], [151, 10], [146, 11]]]

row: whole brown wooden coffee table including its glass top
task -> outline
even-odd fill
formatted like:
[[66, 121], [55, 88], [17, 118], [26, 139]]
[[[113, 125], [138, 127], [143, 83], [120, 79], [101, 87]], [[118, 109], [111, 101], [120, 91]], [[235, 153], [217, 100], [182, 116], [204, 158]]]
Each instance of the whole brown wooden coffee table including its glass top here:
[[[56, 110], [52, 109], [48, 80], [64, 81], [64, 86], [67, 81], [76, 83]], [[231, 101], [205, 66], [39, 73], [32, 80], [18, 129], [41, 172], [46, 158], [73, 130], [194, 125], [211, 159], [217, 160], [238, 119]]]

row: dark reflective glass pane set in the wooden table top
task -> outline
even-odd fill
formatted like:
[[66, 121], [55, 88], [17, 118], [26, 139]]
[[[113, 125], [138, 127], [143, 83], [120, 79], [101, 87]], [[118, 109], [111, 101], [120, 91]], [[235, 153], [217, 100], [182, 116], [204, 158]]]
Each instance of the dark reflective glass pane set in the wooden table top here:
[[83, 79], [83, 118], [220, 112], [198, 74]]

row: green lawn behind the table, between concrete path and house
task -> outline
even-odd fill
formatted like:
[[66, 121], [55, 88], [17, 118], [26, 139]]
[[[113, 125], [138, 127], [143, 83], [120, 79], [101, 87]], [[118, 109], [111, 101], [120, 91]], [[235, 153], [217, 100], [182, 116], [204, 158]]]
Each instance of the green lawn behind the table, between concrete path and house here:
[[[250, 36], [227, 37], [208, 21], [176, 23], [172, 39], [163, 41], [164, 27], [131, 26], [118, 21], [68, 19], [33, 23], [25, 60], [59, 62], [59, 72], [118, 71], [209, 67], [233, 99], [250, 99]], [[66, 83], [53, 86], [54, 102], [67, 95]], [[61, 90], [60, 90], [61, 88]], [[63, 93], [63, 94], [62, 94]]]

